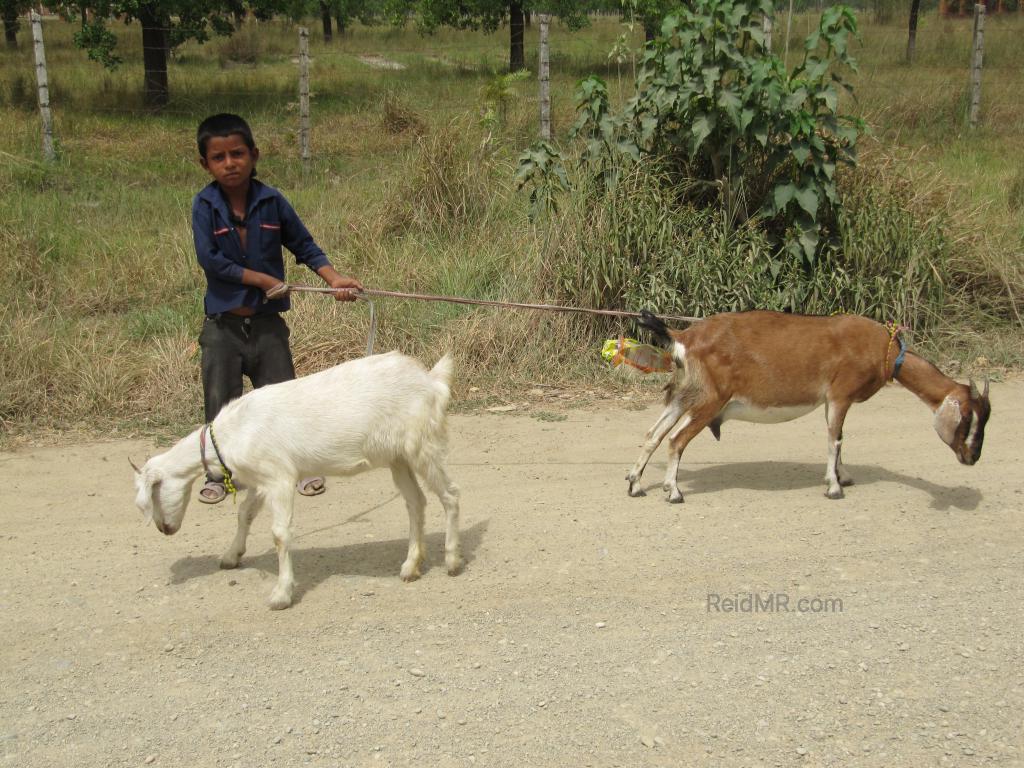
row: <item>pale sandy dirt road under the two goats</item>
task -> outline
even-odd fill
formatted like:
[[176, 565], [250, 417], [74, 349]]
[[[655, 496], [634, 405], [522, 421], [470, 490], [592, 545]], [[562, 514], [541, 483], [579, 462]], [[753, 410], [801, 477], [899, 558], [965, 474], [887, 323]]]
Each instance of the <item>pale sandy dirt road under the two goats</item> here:
[[[230, 502], [143, 525], [152, 444], [0, 455], [0, 761], [1022, 766], [1022, 395], [993, 385], [964, 467], [889, 387], [851, 412], [837, 502], [820, 413], [698, 437], [681, 506], [660, 451], [626, 495], [654, 403], [454, 416], [465, 572], [431, 499], [432, 567], [399, 581], [379, 470], [297, 501], [279, 612], [266, 518], [233, 571]], [[709, 609], [751, 593], [775, 610]]]

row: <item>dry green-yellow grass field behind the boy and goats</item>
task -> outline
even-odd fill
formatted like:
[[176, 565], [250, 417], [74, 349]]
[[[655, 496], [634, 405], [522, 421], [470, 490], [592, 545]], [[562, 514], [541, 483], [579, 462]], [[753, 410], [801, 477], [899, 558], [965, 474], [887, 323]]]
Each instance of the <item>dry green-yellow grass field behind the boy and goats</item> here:
[[[597, 207], [573, 198], [558, 217], [531, 223], [527, 195], [512, 179], [537, 132], [536, 86], [500, 80], [508, 62], [500, 33], [421, 37], [354, 24], [325, 44], [310, 25], [313, 159], [303, 168], [291, 23], [248, 22], [231, 38], [183, 44], [169, 70], [170, 101], [151, 113], [137, 31], [111, 26], [125, 61], [112, 72], [74, 46], [73, 25], [48, 19], [54, 164], [40, 159], [23, 30], [18, 48], [0, 52], [3, 438], [75, 426], [171, 432], [201, 419], [203, 279], [188, 210], [206, 183], [195, 126], [220, 111], [251, 120], [261, 177], [285, 190], [336, 265], [370, 287], [697, 314], [790, 306], [909, 315], [915, 345], [943, 366], [1019, 366], [1024, 23], [1017, 14], [988, 19], [984, 122], [968, 132], [970, 19], [926, 13], [907, 67], [904, 19], [865, 15], [851, 46], [858, 98], [843, 109], [873, 134], [861, 142], [858, 168], [840, 180], [848, 200], [843, 247], [798, 293], [765, 279], [769, 247], [757, 232], [714, 210], [673, 207], [644, 182], [652, 168], [639, 168]], [[790, 67], [816, 25], [817, 13], [792, 19]], [[779, 55], [785, 26], [782, 14]], [[642, 29], [611, 16], [581, 32], [553, 29], [554, 122], [566, 152], [577, 82], [598, 74], [624, 102], [631, 50], [642, 38]], [[526, 51], [534, 61], [536, 27]], [[404, 69], [370, 66], [366, 55]], [[298, 269], [293, 279], [315, 281]], [[941, 311], [921, 311], [936, 306], [935, 296], [921, 295], [924, 285], [939, 291]], [[458, 399], [470, 406], [504, 401], [538, 382], [574, 391], [660, 383], [624, 384], [599, 364], [599, 341], [631, 333], [628, 324], [393, 300], [377, 309], [378, 349], [427, 361], [454, 350]], [[299, 296], [289, 319], [300, 373], [365, 348], [364, 305]]]

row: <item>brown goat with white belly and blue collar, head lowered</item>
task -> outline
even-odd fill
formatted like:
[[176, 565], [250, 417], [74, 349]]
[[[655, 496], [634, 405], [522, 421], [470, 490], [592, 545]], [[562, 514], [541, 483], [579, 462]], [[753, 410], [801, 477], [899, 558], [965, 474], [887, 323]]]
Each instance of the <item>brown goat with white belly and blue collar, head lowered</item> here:
[[665, 489], [680, 503], [677, 475], [686, 445], [709, 427], [715, 437], [729, 419], [762, 423], [791, 421], [825, 407], [829, 499], [853, 484], [844, 471], [843, 422], [895, 379], [935, 414], [935, 430], [962, 464], [981, 456], [990, 413], [988, 382], [958, 384], [913, 352], [891, 329], [857, 315], [817, 317], [782, 312], [716, 314], [684, 331], [643, 312], [640, 325], [672, 352], [676, 373], [666, 387], [666, 409], [647, 432], [643, 451], [626, 476], [630, 496], [643, 496], [640, 476], [651, 454], [669, 437]]

